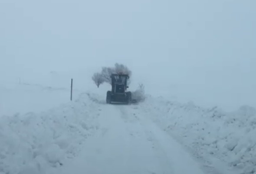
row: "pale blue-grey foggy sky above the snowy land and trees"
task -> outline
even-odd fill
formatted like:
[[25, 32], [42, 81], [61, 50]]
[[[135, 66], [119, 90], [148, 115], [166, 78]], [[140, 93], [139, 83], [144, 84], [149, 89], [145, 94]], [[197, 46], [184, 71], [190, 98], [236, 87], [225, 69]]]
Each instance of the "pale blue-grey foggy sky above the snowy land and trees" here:
[[1, 0], [0, 77], [90, 78], [118, 62], [150, 93], [256, 106], [255, 9], [255, 0]]

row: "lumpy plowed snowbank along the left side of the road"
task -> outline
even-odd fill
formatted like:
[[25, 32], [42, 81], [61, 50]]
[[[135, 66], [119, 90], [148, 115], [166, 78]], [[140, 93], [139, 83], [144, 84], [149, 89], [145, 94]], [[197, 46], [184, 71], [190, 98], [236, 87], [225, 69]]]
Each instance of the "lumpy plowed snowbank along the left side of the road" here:
[[98, 129], [97, 108], [81, 94], [46, 112], [0, 117], [0, 174], [44, 174], [64, 165]]

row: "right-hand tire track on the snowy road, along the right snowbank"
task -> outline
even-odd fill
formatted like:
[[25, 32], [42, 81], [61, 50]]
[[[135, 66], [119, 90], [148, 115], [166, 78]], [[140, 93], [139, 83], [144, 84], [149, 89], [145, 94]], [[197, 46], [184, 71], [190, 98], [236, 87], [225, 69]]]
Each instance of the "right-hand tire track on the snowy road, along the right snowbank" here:
[[[171, 174], [203, 174], [200, 165], [166, 132], [158, 128], [150, 119], [138, 110], [122, 108], [127, 115], [137, 115], [144, 129], [144, 138], [151, 142], [155, 157], [161, 164], [161, 173]], [[154, 172], [156, 173], [156, 172]], [[157, 173], [156, 173], [157, 174]]]

